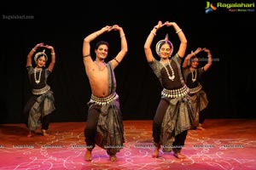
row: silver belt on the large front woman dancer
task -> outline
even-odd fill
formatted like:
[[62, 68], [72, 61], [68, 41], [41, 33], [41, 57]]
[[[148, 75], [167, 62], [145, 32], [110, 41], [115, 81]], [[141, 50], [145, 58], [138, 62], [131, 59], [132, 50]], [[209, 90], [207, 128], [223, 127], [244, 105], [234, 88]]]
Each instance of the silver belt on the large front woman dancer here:
[[167, 98], [177, 98], [177, 97], [183, 97], [187, 94], [189, 94], [189, 88], [184, 85], [182, 88], [177, 88], [173, 90], [168, 90], [164, 88], [162, 90], [162, 96], [167, 97]]

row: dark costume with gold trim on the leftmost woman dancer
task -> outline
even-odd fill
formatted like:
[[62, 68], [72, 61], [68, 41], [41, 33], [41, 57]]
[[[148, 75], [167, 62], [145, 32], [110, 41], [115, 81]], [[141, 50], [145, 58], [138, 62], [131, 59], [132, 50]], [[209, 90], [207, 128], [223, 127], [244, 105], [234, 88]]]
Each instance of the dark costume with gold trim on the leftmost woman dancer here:
[[[32, 66], [28, 66], [26, 69], [32, 86], [31, 97], [24, 108], [24, 114], [27, 118], [26, 126], [29, 130], [34, 131], [42, 123], [42, 129], [48, 130], [49, 114], [55, 111], [55, 98], [47, 84], [47, 78], [51, 72], [43, 69], [41, 73], [39, 71], [35, 73]], [[41, 76], [39, 76], [40, 74]], [[40, 82], [37, 83], [35, 77], [40, 77]]]

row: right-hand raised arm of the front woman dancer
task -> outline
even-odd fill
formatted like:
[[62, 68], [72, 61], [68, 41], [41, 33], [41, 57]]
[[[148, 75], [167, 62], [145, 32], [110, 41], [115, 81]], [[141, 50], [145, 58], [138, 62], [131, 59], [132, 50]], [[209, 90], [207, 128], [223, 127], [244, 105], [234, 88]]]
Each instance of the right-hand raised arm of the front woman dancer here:
[[183, 58], [186, 53], [187, 44], [188, 44], [187, 38], [185, 37], [183, 30], [180, 29], [180, 27], [177, 26], [177, 24], [175, 22], [166, 21], [164, 25], [165, 26], [173, 26], [174, 30], [176, 31], [177, 36], [180, 40], [180, 45], [179, 45], [177, 54], [179, 55], [179, 57]]

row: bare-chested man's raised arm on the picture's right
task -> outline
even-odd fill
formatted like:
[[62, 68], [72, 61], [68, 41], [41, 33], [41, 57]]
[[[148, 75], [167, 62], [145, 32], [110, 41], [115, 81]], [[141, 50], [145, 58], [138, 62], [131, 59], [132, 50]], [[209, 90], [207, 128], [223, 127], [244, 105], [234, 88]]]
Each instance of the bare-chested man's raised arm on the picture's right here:
[[125, 37], [125, 32], [122, 27], [118, 25], [112, 26], [111, 30], [113, 31], [119, 31], [119, 37], [121, 39], [121, 49], [119, 51], [119, 54], [116, 55], [115, 58], [113, 58], [110, 62], [113, 65], [113, 68], [115, 68], [119, 63], [124, 59], [125, 54], [128, 52], [128, 45]]

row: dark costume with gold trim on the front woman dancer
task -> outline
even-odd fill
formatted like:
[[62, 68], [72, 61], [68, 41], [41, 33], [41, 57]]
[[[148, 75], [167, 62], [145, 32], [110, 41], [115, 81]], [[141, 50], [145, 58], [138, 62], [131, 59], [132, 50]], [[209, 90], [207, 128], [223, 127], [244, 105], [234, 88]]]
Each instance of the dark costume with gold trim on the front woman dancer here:
[[160, 147], [163, 145], [163, 151], [180, 152], [184, 145], [189, 130], [194, 122], [195, 114], [192, 109], [192, 103], [189, 96], [189, 88], [183, 81], [180, 64], [182, 59], [176, 54], [170, 60], [170, 66], [167, 64], [168, 71], [174, 71], [175, 78], [170, 80], [164, 65], [154, 59], [149, 62], [156, 77], [159, 78], [162, 87], [160, 104], [153, 121], [154, 144]]

